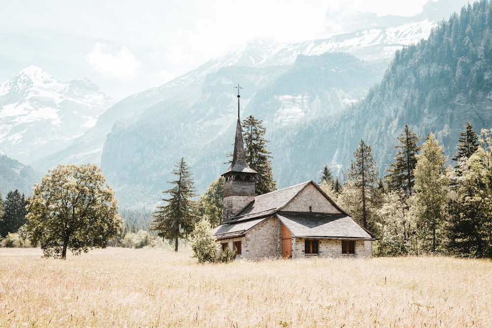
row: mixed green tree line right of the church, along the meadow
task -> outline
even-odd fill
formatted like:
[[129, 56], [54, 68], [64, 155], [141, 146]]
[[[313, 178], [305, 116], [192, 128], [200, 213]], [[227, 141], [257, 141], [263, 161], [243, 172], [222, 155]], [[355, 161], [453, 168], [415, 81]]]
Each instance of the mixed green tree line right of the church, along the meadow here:
[[326, 166], [320, 185], [361, 226], [373, 232], [374, 255], [443, 254], [492, 257], [492, 130], [480, 135], [467, 122], [454, 166], [430, 133], [405, 125], [396, 155], [381, 178], [370, 146], [361, 140], [343, 172], [340, 190]]

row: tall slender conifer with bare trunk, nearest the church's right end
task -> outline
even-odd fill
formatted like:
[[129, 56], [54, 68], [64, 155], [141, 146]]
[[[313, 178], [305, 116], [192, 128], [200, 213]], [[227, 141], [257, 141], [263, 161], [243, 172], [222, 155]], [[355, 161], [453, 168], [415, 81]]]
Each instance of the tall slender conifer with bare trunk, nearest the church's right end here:
[[[355, 209], [352, 210], [352, 217], [359, 221], [365, 229], [369, 227], [371, 197], [377, 182], [378, 174], [376, 163], [372, 157], [370, 146], [361, 140], [359, 148], [354, 152], [355, 161], [352, 160], [349, 170], [344, 173], [345, 187], [344, 192], [349, 192], [346, 187], [352, 188], [352, 199], [355, 202]], [[373, 226], [371, 226], [373, 228]]]

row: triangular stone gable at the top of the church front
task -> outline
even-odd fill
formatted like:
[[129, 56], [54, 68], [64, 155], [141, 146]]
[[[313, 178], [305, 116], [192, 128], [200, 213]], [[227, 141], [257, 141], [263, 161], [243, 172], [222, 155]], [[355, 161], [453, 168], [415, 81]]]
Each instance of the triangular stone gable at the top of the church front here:
[[311, 207], [311, 212], [332, 214], [342, 213], [311, 183], [296, 195], [282, 211], [309, 212], [309, 207]]

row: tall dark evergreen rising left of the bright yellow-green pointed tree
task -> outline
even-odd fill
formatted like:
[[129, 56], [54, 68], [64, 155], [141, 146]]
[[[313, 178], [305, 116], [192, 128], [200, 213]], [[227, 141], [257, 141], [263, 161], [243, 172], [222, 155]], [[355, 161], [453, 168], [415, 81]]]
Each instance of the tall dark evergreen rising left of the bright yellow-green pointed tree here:
[[389, 174], [385, 177], [386, 184], [389, 190], [402, 189], [409, 197], [413, 192], [415, 180], [413, 170], [417, 164], [415, 155], [420, 150], [420, 147], [417, 146], [420, 136], [405, 124], [403, 134], [398, 137], [398, 140], [400, 145], [395, 146], [397, 154], [395, 155], [395, 162], [390, 163]]

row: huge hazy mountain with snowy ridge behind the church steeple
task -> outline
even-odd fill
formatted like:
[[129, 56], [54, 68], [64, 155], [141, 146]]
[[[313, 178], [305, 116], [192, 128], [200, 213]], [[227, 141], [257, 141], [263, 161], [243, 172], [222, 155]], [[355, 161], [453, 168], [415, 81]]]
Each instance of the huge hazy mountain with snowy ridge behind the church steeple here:
[[69, 147], [40, 158], [36, 167], [100, 163], [120, 203], [131, 206], [160, 200], [173, 165], [184, 156], [203, 192], [226, 169], [237, 115], [233, 87], [239, 82], [241, 116], [263, 120], [279, 187], [317, 179], [326, 163], [349, 164], [356, 148], [352, 140], [364, 135], [364, 119], [376, 120], [362, 115], [354, 121], [344, 116], [347, 107], [352, 113], [347, 115], [354, 115], [350, 105], [383, 79], [395, 51], [428, 38], [431, 27], [449, 16], [442, 3], [456, 2], [429, 1], [425, 12], [410, 18], [359, 13], [353, 26], [361, 29], [327, 39], [251, 42], [244, 51], [116, 103]]

